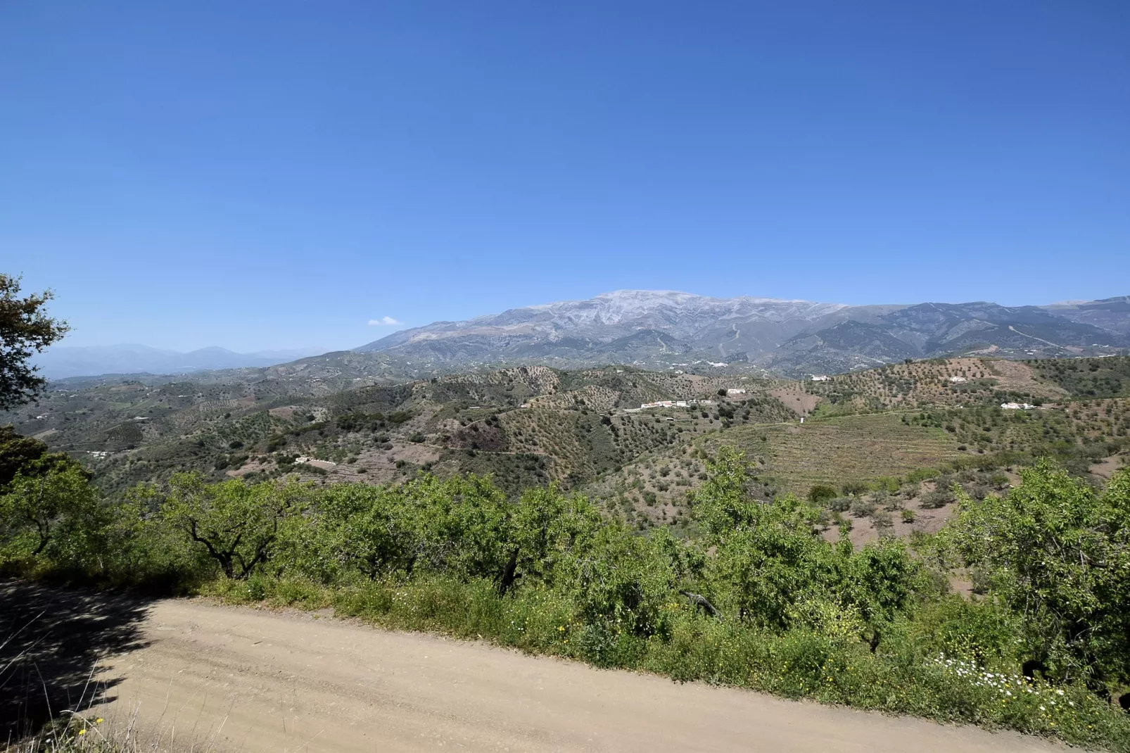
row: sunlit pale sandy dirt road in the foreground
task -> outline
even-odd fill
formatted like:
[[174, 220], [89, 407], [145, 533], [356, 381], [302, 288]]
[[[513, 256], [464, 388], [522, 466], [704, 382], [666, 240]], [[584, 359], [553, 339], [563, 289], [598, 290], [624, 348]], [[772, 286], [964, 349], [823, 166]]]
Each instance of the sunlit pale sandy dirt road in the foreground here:
[[1042, 741], [679, 685], [314, 614], [149, 605], [97, 713], [235, 751], [1053, 751]]

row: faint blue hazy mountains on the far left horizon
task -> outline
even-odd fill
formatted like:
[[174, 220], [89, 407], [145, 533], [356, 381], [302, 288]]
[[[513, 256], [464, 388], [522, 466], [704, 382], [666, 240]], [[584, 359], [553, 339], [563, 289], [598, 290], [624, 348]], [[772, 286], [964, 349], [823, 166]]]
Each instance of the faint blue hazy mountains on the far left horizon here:
[[210, 369], [270, 366], [320, 353], [318, 348], [234, 353], [208, 347], [189, 353], [162, 350], [145, 345], [54, 346], [35, 356], [33, 363], [49, 379], [99, 374], [173, 374]]

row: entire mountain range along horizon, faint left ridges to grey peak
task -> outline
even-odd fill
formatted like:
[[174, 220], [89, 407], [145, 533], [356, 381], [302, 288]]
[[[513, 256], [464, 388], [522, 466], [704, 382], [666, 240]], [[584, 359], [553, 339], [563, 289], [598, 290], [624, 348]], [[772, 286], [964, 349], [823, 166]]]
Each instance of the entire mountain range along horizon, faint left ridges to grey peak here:
[[[984, 301], [846, 305], [616, 291], [467, 321], [436, 321], [334, 353], [54, 347], [35, 363], [51, 379], [141, 373], [241, 381], [316, 376], [323, 382], [319, 389], [330, 389], [506, 364], [573, 369], [618, 363], [705, 372], [729, 367], [801, 376], [906, 358], [1054, 358], [1115, 355], [1127, 348], [1130, 296], [1025, 306]], [[240, 373], [225, 373], [231, 370]]]

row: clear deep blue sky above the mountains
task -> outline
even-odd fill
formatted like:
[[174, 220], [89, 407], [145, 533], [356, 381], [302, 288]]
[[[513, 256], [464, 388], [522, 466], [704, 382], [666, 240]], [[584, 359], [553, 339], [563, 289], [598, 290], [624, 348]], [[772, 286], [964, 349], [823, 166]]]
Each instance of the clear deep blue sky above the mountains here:
[[2, 2], [0, 269], [180, 349], [1125, 295], [1130, 2]]

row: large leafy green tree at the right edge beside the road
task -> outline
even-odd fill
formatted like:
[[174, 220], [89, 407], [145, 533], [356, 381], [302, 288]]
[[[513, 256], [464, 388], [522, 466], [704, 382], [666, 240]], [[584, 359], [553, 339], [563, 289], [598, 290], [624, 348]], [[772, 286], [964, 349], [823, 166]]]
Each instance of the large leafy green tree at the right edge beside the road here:
[[1028, 650], [1062, 681], [1130, 680], [1130, 470], [1096, 492], [1050, 460], [1006, 496], [959, 493], [964, 562], [1024, 616]]

